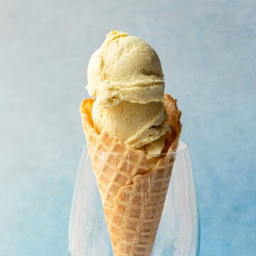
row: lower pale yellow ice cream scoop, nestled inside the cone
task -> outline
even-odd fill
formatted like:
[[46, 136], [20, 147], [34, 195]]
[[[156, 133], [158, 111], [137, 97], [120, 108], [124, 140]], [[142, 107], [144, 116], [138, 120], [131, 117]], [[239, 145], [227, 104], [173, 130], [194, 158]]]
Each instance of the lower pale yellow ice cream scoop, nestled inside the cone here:
[[163, 102], [124, 101], [114, 107], [102, 108], [96, 100], [92, 106], [92, 119], [98, 132], [104, 129], [135, 149], [156, 141], [168, 129], [164, 122]]

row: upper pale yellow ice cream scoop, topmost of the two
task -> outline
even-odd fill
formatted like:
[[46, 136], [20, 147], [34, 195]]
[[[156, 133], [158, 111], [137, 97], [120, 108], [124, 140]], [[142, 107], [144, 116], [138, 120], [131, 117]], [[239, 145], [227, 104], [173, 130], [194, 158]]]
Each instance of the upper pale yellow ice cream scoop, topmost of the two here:
[[149, 103], [164, 97], [164, 75], [158, 55], [136, 36], [111, 31], [90, 58], [87, 90], [105, 107]]

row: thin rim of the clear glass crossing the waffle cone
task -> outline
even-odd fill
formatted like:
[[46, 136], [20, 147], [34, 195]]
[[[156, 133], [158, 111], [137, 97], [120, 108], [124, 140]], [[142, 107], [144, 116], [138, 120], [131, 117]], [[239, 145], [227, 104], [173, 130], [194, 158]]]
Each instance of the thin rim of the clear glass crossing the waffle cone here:
[[[176, 154], [180, 154], [183, 151], [186, 151], [188, 149], [188, 142], [184, 142], [182, 139], [180, 139], [178, 141], [178, 146], [181, 144], [183, 144], [183, 147], [181, 149], [176, 149], [176, 151], [171, 151], [171, 152], [167, 152], [167, 153], [161, 153], [161, 154], [145, 154], [145, 156], [152, 156], [152, 157], [156, 157], [156, 156], [166, 156], [166, 155], [176, 155]], [[87, 144], [85, 144], [85, 148], [92, 150], [92, 151], [97, 151], [99, 153], [102, 154], [115, 154], [115, 155], [122, 155], [121, 153], [117, 153], [117, 152], [113, 152], [113, 151], [104, 151], [104, 150], [99, 150], [99, 149], [93, 149], [90, 146], [88, 146]], [[132, 154], [127, 154], [129, 156], [141, 156], [144, 152], [142, 150], [139, 149], [134, 149], [134, 151], [138, 151], [138, 153], [132, 153]], [[141, 151], [141, 153], [139, 152]]]

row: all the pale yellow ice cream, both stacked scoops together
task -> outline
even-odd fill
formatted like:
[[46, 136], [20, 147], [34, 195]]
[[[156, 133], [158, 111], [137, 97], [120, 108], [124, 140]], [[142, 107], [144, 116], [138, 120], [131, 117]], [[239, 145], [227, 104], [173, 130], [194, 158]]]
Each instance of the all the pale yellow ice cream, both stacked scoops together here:
[[92, 120], [97, 132], [119, 137], [124, 145], [143, 149], [148, 156], [161, 153], [170, 128], [162, 102], [164, 75], [149, 44], [110, 31], [90, 58], [87, 90], [96, 97]]

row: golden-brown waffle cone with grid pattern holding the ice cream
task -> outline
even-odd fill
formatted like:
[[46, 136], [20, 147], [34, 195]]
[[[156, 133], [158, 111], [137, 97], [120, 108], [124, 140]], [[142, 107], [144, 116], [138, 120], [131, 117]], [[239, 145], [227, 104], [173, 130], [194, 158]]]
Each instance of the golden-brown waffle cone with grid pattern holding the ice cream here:
[[[80, 105], [82, 126], [102, 198], [114, 256], [150, 256], [164, 208], [174, 165], [174, 154], [165, 154], [156, 164], [143, 151], [124, 146], [117, 137], [98, 134], [91, 110], [94, 100]], [[165, 95], [164, 105], [171, 131], [164, 152], [176, 151], [181, 133], [181, 111], [176, 100]]]

